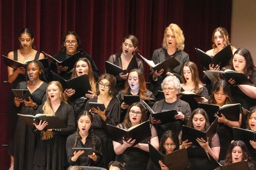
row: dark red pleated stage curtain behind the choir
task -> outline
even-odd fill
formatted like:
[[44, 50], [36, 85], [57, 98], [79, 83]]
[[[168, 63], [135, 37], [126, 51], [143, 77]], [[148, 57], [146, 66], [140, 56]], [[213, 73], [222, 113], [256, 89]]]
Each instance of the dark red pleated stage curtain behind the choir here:
[[[121, 51], [124, 36], [137, 36], [139, 53], [151, 59], [153, 51], [162, 47], [165, 28], [175, 23], [185, 36], [184, 51], [198, 63], [194, 48], [211, 49], [216, 27], [230, 32], [231, 9], [232, 0], [0, 0], [0, 54], [20, 47], [22, 28], [31, 29], [36, 49], [50, 55], [60, 50], [65, 32], [73, 30], [103, 73], [105, 60]], [[7, 147], [2, 145], [8, 143], [10, 85], [4, 83], [7, 67], [0, 62], [0, 162], [7, 167]], [[148, 79], [149, 67], [144, 64], [144, 68]]]

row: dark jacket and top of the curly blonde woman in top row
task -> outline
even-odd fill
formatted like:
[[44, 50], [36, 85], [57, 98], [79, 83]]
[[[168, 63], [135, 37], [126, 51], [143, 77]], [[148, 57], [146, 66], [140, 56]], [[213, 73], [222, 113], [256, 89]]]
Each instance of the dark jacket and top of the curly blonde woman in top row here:
[[[173, 55], [168, 55], [167, 50], [164, 48], [159, 48], [154, 51], [152, 55], [152, 61], [155, 64], [162, 63], [164, 60], [170, 58], [173, 56], [177, 61], [179, 61], [180, 65], [175, 67], [173, 70], [171, 70], [171, 73], [174, 73], [176, 77], [179, 78], [180, 73], [182, 71], [183, 65], [189, 61], [189, 56], [184, 51], [176, 51]], [[163, 79], [166, 78], [165, 74], [159, 75], [157, 77], [157, 80], [153, 80], [153, 72], [150, 70], [150, 91], [153, 92], [154, 96], [158, 95], [158, 90], [161, 90], [161, 83], [163, 82]], [[162, 94], [163, 95], [163, 94]], [[162, 96], [163, 99], [164, 96]]]

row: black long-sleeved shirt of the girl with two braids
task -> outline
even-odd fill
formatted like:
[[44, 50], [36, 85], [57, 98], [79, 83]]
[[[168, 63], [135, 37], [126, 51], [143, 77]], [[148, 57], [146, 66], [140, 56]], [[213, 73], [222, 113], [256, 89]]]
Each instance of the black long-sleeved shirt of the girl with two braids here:
[[[79, 156], [76, 162], [73, 162], [71, 160], [71, 157], [73, 156], [72, 152], [72, 147], [75, 143], [76, 139], [76, 133], [69, 135], [67, 138], [66, 142], [66, 151], [68, 155], [68, 162], [70, 166], [97, 166], [97, 163], [102, 160], [102, 143], [101, 140], [98, 136], [94, 135], [94, 140], [95, 140], [95, 149], [96, 149], [96, 156], [97, 156], [97, 161], [93, 162], [93, 160], [89, 157], [85, 157], [83, 155]], [[77, 145], [75, 147], [78, 148], [93, 148], [93, 143], [91, 142], [91, 134], [89, 134], [86, 139], [85, 139], [85, 144], [81, 141], [81, 136], [78, 133], [78, 138], [77, 138]]]

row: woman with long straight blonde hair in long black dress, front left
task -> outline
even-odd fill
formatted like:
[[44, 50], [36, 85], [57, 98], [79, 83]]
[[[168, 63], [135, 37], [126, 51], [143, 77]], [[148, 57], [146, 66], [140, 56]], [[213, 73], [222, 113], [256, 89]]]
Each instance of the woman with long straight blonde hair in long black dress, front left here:
[[36, 114], [57, 116], [66, 127], [45, 130], [46, 121], [41, 120], [38, 125], [33, 123], [33, 132], [37, 134], [33, 170], [67, 170], [66, 140], [75, 131], [75, 116], [63, 94], [61, 83], [52, 81], [48, 84], [47, 99], [44, 105], [38, 107]]

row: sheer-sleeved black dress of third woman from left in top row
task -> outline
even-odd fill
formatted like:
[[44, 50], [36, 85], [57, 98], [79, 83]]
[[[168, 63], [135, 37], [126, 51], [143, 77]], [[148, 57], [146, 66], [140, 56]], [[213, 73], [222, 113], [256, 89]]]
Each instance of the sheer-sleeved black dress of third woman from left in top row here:
[[[107, 61], [122, 68], [121, 54], [122, 53], [110, 55], [110, 57]], [[140, 69], [142, 72], [144, 72], [144, 66], [143, 66], [142, 60], [138, 59], [137, 57], [136, 57], [136, 60], [138, 63], [138, 69]], [[115, 78], [117, 79], [117, 87], [116, 87], [114, 96], [116, 96], [118, 94], [118, 91], [125, 88], [125, 82], [126, 82], [126, 80], [121, 79], [120, 75], [115, 75]]]

